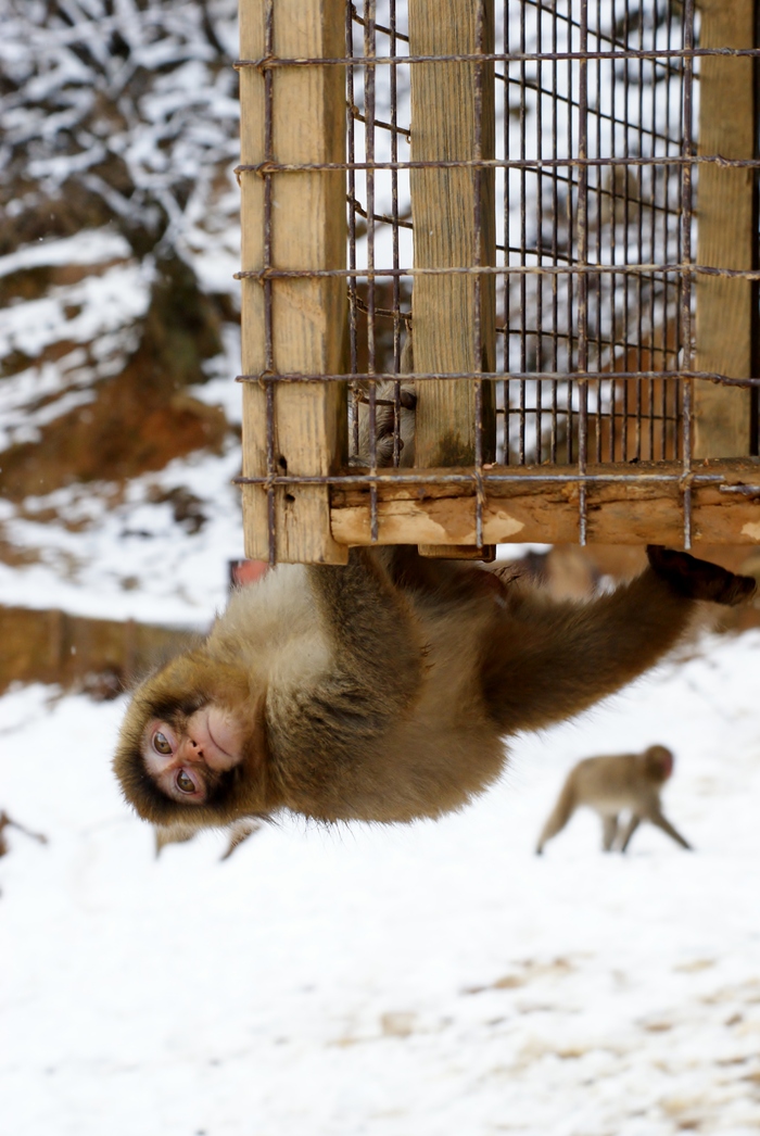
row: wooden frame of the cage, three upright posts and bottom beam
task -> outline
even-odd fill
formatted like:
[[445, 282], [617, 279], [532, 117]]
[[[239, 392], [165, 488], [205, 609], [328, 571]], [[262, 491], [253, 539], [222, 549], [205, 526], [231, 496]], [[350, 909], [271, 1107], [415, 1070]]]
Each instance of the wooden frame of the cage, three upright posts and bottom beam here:
[[[700, 6], [700, 150], [694, 154], [685, 140], [682, 159], [685, 209], [698, 165], [700, 177], [696, 258], [688, 244], [684, 257], [696, 289], [696, 356], [686, 351], [682, 374], [684, 456], [635, 469], [594, 465], [583, 438], [573, 466], [492, 462], [488, 379], [503, 377], [494, 370], [493, 296], [495, 275], [504, 270], [495, 268], [490, 223], [493, 0], [408, 3], [418, 466], [359, 473], [346, 469], [343, 441], [352, 275], [345, 266], [346, 5], [241, 0], [247, 554], [340, 563], [350, 545], [371, 543], [412, 543], [439, 556], [483, 556], [488, 545], [512, 541], [760, 543], [760, 466], [749, 457], [746, 389], [754, 382], [758, 278], [754, 0]], [[687, 45], [686, 98], [693, 56]], [[436, 133], [441, 122], [445, 139]], [[581, 257], [574, 268], [582, 290], [587, 267]], [[370, 274], [368, 286], [391, 274]], [[682, 318], [691, 344], [690, 292], [691, 284]], [[594, 377], [584, 370], [583, 350], [578, 364], [583, 390], [584, 378]]]

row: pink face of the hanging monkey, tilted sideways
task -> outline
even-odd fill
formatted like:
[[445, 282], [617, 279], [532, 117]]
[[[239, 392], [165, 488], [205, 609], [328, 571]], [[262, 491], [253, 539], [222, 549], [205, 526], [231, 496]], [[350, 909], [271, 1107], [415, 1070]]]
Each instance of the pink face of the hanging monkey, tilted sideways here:
[[204, 804], [222, 774], [242, 761], [243, 730], [229, 710], [214, 703], [186, 720], [151, 718], [142, 755], [158, 788], [181, 804]]

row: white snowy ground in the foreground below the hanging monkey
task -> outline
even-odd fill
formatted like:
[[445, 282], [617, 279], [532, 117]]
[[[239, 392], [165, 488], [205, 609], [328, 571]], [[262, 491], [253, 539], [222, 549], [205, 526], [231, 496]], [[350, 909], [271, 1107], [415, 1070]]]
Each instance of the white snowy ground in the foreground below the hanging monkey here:
[[[0, 1099], [8, 1136], [661, 1136], [760, 1130], [760, 633], [707, 640], [519, 740], [439, 824], [285, 820], [219, 862], [123, 807], [118, 703], [0, 700]], [[566, 769], [676, 751], [626, 857]]]

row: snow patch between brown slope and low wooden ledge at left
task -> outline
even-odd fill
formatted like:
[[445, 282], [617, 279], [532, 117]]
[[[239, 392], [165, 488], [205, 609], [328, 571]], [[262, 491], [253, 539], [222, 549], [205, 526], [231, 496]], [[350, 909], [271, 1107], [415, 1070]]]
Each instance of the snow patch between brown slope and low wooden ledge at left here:
[[[220, 457], [199, 453], [135, 477], [118, 498], [116, 486], [90, 482], [26, 498], [23, 510], [0, 499], [1, 532], [39, 556], [20, 570], [0, 562], [2, 602], [207, 627], [226, 601], [227, 561], [244, 556], [239, 474], [233, 444]], [[199, 532], [184, 532], [168, 502], [151, 502], [154, 490], [174, 488], [198, 496], [208, 518]], [[57, 520], [36, 519], [51, 508]]]

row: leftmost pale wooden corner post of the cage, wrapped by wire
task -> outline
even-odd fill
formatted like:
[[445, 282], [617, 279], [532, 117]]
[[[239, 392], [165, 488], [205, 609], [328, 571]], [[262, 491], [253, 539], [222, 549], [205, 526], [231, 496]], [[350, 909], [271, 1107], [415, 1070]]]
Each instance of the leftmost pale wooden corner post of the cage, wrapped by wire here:
[[[241, 58], [342, 56], [344, 18], [344, 0], [241, 0]], [[265, 68], [243, 67], [240, 77], [243, 165], [344, 161], [342, 67], [275, 67], [268, 73]], [[241, 193], [243, 272], [267, 267], [345, 267], [343, 170], [268, 175], [244, 170]], [[243, 278], [244, 373], [343, 370], [345, 294], [345, 281], [341, 277], [275, 277], [268, 284]], [[334, 473], [344, 458], [344, 385], [275, 384], [272, 403], [274, 449], [269, 452], [267, 392], [264, 384], [244, 384], [243, 476], [304, 477]], [[269, 548], [267, 490], [244, 485], [243, 526], [249, 558], [268, 559], [274, 552], [277, 560], [345, 562], [348, 550], [331, 535], [326, 485], [277, 486], [273, 519], [274, 550]]]

